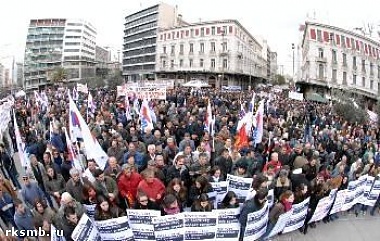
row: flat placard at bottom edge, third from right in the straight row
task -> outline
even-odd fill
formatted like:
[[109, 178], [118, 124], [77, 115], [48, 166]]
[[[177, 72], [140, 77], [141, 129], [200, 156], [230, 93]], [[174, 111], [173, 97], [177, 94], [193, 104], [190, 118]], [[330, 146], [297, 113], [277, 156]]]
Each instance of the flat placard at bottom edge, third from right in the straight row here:
[[156, 241], [183, 241], [183, 214], [154, 217], [154, 236]]

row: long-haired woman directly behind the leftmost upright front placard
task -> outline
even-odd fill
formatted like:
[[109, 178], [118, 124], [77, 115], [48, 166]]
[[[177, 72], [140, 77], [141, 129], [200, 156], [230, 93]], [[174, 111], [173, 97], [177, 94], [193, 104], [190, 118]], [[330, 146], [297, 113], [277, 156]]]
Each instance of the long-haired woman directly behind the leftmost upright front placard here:
[[108, 220], [125, 216], [125, 212], [118, 206], [114, 205], [104, 196], [99, 196], [98, 204], [95, 209], [95, 220]]

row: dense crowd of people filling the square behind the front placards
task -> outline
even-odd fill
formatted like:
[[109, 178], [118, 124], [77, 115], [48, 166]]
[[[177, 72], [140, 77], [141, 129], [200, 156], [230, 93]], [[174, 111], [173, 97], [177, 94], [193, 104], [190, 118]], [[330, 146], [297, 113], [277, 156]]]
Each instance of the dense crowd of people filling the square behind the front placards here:
[[[310, 197], [307, 219], [300, 229], [306, 234], [316, 226], [308, 221], [318, 201], [330, 190], [344, 189], [348, 181], [361, 175], [379, 175], [380, 131], [370, 123], [348, 123], [329, 104], [292, 100], [268, 88], [255, 91], [261, 93], [257, 99], [266, 99], [263, 139], [255, 143], [250, 137], [243, 148], [234, 145], [236, 128], [241, 107], [249, 108], [252, 92], [168, 90], [166, 100], [150, 101], [156, 122], [153, 129], [144, 130], [132, 99], [118, 97], [112, 90], [92, 90], [96, 111], [88, 114], [87, 96], [80, 94], [76, 104], [109, 156], [104, 170], [95, 160], [85, 158], [91, 150], [85, 150], [80, 140], [74, 146], [85, 170], [73, 166], [73, 155], [67, 150], [70, 140], [63, 131], [69, 129], [65, 89], [46, 90], [46, 106], [34, 94], [17, 98], [14, 111], [30, 166], [16, 168], [15, 127], [10, 123], [11, 138], [3, 138], [0, 144], [3, 230], [13, 226], [49, 232], [53, 224], [70, 241], [87, 205], [96, 205], [95, 220], [124, 216], [127, 208], [160, 210], [162, 215], [207, 212], [214, 208], [208, 197], [211, 183], [232, 174], [253, 178], [239, 217], [241, 238], [248, 214], [264, 206], [269, 189], [274, 189], [275, 205], [269, 213], [267, 234], [293, 203]], [[204, 128], [209, 100], [215, 134]], [[131, 110], [128, 115], [126, 109]], [[239, 200], [230, 191], [218, 208], [236, 207]], [[375, 215], [378, 210], [379, 200], [370, 208], [355, 205], [352, 213]], [[338, 217], [331, 215], [323, 221]]]

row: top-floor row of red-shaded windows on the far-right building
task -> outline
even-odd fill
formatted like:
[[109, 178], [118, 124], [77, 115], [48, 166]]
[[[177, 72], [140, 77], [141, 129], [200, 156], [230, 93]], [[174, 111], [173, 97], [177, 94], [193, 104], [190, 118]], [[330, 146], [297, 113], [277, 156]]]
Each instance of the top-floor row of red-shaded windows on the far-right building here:
[[356, 50], [357, 52], [372, 56], [373, 58], [380, 58], [379, 46], [374, 46], [373, 44], [365, 43], [362, 40], [340, 35], [338, 33], [310, 28], [310, 39], [319, 42], [332, 43], [343, 48]]

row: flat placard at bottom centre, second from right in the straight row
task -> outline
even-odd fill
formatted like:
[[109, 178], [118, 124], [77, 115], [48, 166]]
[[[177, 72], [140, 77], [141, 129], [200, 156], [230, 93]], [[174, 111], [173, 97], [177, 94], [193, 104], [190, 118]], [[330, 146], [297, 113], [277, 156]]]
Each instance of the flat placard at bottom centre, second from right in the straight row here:
[[184, 240], [214, 240], [217, 215], [213, 212], [184, 213]]

